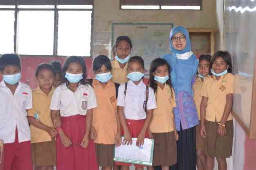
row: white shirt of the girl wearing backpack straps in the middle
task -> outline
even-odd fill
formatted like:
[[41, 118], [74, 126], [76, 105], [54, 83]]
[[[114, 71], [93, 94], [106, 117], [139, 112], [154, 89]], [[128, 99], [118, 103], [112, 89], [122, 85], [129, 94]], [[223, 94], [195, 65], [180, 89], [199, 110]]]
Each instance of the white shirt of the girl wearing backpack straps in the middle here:
[[[124, 96], [125, 84], [119, 86], [117, 106], [124, 107], [124, 115], [126, 119], [141, 120], [146, 119], [146, 112], [143, 108], [144, 101], [146, 101], [146, 85], [141, 80], [138, 85], [129, 80], [126, 89], [126, 96]], [[147, 109], [156, 109], [155, 93], [152, 88], [149, 89]]]

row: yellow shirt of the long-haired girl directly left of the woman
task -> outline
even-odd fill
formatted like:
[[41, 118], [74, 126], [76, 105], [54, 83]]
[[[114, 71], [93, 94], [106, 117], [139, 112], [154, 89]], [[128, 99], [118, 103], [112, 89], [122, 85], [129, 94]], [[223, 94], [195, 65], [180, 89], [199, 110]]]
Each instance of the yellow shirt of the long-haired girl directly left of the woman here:
[[175, 93], [173, 88], [165, 85], [164, 89], [157, 87], [155, 95], [157, 109], [153, 111], [153, 118], [149, 129], [152, 133], [167, 133], [174, 131], [173, 108], [176, 107]]

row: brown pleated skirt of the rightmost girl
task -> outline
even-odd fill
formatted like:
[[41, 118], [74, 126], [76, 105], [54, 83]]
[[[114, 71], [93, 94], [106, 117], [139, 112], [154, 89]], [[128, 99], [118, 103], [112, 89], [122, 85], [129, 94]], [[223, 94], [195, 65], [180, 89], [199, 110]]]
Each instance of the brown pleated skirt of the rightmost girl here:
[[226, 135], [217, 133], [218, 122], [205, 121], [207, 138], [204, 140], [204, 154], [211, 157], [227, 158], [231, 156], [234, 127], [233, 120], [226, 122]]

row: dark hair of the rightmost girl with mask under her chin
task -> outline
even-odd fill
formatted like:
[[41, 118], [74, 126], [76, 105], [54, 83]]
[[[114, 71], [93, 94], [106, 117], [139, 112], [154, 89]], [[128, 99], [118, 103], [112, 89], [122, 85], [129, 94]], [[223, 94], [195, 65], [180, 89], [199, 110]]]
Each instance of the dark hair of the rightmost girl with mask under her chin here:
[[221, 57], [227, 65], [229, 65], [229, 68], [227, 69], [227, 72], [232, 72], [232, 61], [229, 52], [227, 51], [217, 51], [213, 54], [213, 57], [211, 58], [210, 67], [212, 68], [213, 62], [218, 58]]

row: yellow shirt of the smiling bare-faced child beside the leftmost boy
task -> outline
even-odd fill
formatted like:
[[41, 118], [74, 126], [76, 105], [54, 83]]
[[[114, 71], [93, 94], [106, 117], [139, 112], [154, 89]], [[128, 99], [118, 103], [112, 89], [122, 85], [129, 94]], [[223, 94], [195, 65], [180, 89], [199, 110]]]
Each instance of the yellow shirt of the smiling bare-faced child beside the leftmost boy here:
[[[32, 90], [33, 108], [29, 109], [28, 116], [35, 117], [37, 112], [39, 115], [39, 120], [43, 124], [49, 127], [53, 127], [51, 119], [50, 104], [52, 99], [52, 94], [54, 92], [54, 87], [52, 87], [51, 92], [47, 96], [38, 86], [36, 89]], [[30, 125], [31, 131], [31, 143], [40, 143], [51, 141], [52, 137], [44, 130], [39, 129], [32, 124]]]

